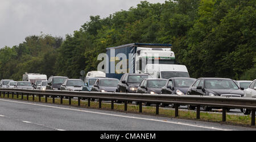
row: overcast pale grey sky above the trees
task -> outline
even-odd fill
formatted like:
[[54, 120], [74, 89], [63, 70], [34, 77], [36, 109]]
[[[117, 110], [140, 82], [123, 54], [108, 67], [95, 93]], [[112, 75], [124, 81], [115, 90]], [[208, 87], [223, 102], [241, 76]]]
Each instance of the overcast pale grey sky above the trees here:
[[[141, 0], [0, 0], [0, 48], [13, 47], [29, 35], [65, 37], [79, 30], [90, 15], [101, 18], [128, 10]], [[147, 0], [164, 3], [166, 0]]]

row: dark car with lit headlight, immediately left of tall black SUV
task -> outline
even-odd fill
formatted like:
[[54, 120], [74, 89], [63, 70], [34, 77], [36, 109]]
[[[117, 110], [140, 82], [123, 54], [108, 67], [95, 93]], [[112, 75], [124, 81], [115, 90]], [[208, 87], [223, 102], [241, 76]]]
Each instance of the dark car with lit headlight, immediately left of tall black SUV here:
[[118, 82], [115, 78], [98, 78], [90, 91], [115, 92]]

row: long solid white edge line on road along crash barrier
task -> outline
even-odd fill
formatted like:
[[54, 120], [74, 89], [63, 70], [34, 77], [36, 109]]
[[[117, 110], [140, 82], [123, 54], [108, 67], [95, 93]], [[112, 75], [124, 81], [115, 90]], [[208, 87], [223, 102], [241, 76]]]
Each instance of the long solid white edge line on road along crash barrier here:
[[73, 109], [73, 108], [46, 106], [46, 105], [39, 105], [39, 104], [36, 104], [36, 103], [16, 102], [16, 101], [8, 101], [8, 100], [3, 100], [3, 99], [0, 99], [0, 101], [13, 102], [13, 103], [22, 103], [22, 104], [26, 104], [26, 105], [35, 105], [35, 106], [43, 106], [43, 107], [51, 107], [51, 108], [59, 108], [59, 109], [62, 109], [62, 110], [72, 110], [72, 111], [88, 112], [88, 113], [92, 113], [92, 114], [117, 116], [117, 117], [122, 117], [122, 118], [132, 118], [132, 119], [150, 120], [150, 121], [154, 121], [154, 122], [180, 124], [180, 125], [183, 125], [183, 126], [199, 127], [199, 128], [206, 128], [206, 129], [218, 130], [218, 131], [232, 131], [232, 130], [228, 130], [228, 129], [224, 129], [224, 128], [214, 128], [214, 127], [199, 126], [199, 125], [188, 124], [188, 123], [171, 122], [170, 120], [157, 120], [157, 119], [150, 119], [150, 118], [139, 118], [139, 117], [135, 117], [135, 116], [125, 116], [125, 115], [117, 115], [117, 114], [106, 114], [106, 113], [103, 113], [103, 112], [93, 112], [93, 111], [86, 111], [86, 110], [77, 110], [77, 109]]

